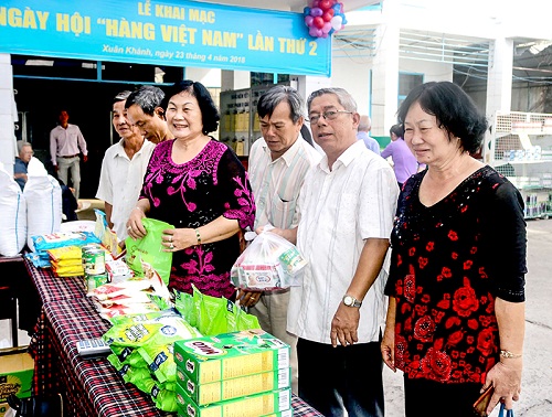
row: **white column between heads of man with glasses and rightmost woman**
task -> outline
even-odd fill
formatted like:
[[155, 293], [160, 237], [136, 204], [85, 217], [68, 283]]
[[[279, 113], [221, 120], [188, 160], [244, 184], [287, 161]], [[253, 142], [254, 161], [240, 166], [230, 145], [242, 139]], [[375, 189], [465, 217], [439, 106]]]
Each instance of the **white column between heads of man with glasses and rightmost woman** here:
[[399, 0], [385, 0], [382, 24], [375, 31], [375, 56], [372, 71], [372, 130], [373, 136], [389, 135], [396, 122], [399, 97]]

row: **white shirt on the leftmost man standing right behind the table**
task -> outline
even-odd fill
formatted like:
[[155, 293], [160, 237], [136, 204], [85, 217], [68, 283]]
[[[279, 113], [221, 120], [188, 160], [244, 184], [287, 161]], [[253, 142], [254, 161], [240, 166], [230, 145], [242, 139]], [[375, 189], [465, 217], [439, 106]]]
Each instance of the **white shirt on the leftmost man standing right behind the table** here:
[[119, 240], [128, 237], [126, 223], [136, 207], [144, 175], [156, 147], [145, 140], [141, 149], [129, 159], [123, 145], [124, 140], [120, 139], [105, 152], [96, 193], [96, 199], [113, 205], [112, 223]]

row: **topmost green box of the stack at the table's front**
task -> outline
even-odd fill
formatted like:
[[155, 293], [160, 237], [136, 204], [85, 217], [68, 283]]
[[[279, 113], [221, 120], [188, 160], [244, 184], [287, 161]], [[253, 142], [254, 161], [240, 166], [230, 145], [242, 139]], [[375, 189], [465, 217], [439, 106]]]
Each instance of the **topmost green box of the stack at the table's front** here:
[[262, 330], [174, 342], [174, 362], [195, 384], [289, 367], [289, 345]]

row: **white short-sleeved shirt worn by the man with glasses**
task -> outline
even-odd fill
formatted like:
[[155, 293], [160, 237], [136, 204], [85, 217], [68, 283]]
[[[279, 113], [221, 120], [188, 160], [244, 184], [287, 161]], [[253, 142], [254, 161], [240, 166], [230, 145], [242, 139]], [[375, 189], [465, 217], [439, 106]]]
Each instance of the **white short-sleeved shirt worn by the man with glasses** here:
[[[309, 171], [299, 196], [297, 233], [297, 247], [308, 265], [301, 286], [290, 291], [290, 333], [331, 343], [331, 320], [354, 276], [364, 240], [390, 237], [397, 195], [393, 170], [362, 141], [349, 147], [331, 171], [327, 157]], [[378, 341], [385, 319], [388, 270], [389, 261], [360, 308], [359, 343]]]

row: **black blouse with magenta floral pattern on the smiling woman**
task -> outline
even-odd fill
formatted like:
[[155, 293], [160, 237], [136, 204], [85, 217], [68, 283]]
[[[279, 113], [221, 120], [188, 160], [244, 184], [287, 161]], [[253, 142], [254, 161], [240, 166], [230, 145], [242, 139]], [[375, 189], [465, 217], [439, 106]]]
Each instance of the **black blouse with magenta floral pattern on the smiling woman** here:
[[[203, 226], [223, 215], [240, 227], [253, 227], [255, 204], [244, 167], [224, 143], [211, 140], [191, 161], [177, 164], [174, 140], [157, 145], [148, 165], [140, 197], [148, 199], [148, 215], [177, 228]], [[231, 298], [230, 270], [240, 255], [237, 235], [211, 244], [177, 250], [169, 288]]]

